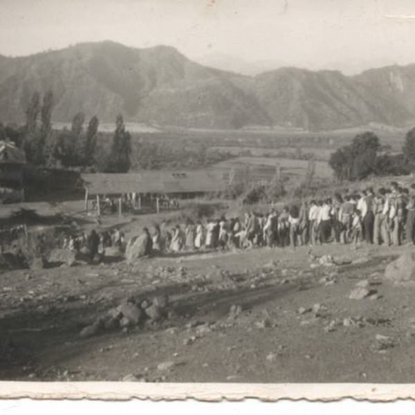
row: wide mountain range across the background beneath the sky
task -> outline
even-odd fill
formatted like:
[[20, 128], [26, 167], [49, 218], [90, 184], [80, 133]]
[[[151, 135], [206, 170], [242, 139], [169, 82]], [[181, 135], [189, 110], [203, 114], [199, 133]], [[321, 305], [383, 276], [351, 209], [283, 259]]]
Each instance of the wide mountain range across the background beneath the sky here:
[[169, 46], [85, 43], [25, 57], [0, 55], [0, 120], [24, 122], [34, 91], [51, 89], [53, 120], [118, 113], [132, 122], [204, 129], [329, 130], [415, 122], [415, 64], [339, 71], [278, 68], [255, 76], [192, 62]]

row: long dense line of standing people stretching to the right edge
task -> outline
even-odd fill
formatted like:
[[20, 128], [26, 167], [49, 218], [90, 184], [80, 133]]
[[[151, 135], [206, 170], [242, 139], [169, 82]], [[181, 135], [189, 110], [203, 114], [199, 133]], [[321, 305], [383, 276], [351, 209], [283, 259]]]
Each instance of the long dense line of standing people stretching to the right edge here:
[[358, 193], [334, 194], [272, 209], [247, 212], [243, 219], [188, 222], [161, 232], [156, 226], [153, 249], [165, 252], [201, 248], [252, 248], [320, 245], [331, 242], [376, 245], [415, 243], [415, 185], [367, 187]]

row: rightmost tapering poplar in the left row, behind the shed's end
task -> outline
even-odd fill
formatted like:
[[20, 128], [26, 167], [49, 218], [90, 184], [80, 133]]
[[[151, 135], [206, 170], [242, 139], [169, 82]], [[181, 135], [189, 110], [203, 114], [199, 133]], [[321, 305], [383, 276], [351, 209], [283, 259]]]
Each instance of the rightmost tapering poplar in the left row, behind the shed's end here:
[[114, 131], [111, 152], [107, 159], [106, 172], [127, 173], [131, 167], [131, 135], [125, 131], [124, 120], [121, 114], [116, 119], [116, 131]]

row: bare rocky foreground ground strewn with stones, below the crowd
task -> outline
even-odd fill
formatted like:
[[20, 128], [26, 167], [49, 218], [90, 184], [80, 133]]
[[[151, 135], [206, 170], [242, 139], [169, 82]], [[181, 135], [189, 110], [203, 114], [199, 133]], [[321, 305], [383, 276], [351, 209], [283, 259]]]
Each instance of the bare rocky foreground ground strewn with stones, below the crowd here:
[[0, 275], [1, 380], [414, 382], [413, 247], [330, 245]]

